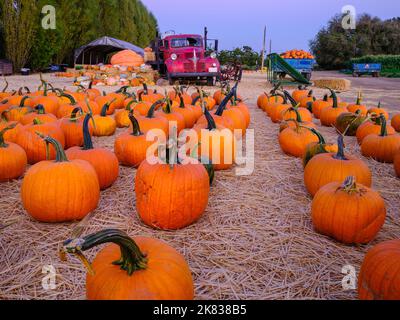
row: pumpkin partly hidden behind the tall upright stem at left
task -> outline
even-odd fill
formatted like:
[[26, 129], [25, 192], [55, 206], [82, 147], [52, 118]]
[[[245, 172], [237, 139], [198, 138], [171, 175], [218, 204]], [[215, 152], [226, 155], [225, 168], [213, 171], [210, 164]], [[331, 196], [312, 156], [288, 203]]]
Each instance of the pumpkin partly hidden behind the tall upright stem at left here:
[[[78, 113], [80, 113], [79, 118]], [[83, 146], [83, 116], [82, 109], [80, 107], [72, 110], [69, 119], [64, 118], [60, 120], [60, 128], [64, 133], [65, 137], [65, 149], [72, 147]], [[93, 126], [89, 126], [90, 135], [93, 134]]]

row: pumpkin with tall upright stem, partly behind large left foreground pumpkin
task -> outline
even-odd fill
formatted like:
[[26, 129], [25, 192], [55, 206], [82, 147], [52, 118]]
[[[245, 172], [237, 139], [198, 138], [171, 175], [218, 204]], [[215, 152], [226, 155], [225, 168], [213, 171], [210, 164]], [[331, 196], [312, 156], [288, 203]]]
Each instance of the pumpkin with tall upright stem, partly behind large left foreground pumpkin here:
[[83, 121], [83, 148], [73, 147], [67, 150], [67, 157], [71, 160], [80, 159], [89, 162], [97, 173], [100, 189], [111, 187], [118, 179], [119, 163], [115, 154], [107, 149], [94, 148], [89, 131], [91, 115], [86, 115]]

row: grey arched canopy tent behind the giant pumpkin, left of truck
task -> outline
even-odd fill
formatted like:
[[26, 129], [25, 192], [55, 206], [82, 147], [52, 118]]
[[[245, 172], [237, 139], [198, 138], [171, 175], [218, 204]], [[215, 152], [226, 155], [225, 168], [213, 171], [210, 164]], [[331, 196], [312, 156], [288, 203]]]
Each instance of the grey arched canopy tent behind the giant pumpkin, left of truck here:
[[107, 56], [110, 53], [121, 50], [132, 50], [133, 52], [144, 56], [144, 50], [132, 43], [110, 37], [102, 37], [76, 49], [74, 62], [75, 64], [79, 62], [80, 64], [89, 65], [106, 63]]

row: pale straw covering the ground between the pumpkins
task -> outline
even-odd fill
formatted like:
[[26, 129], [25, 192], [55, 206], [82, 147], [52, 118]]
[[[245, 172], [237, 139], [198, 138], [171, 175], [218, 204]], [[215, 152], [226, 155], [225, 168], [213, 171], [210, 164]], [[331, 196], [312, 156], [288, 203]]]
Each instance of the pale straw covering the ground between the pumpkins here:
[[[14, 87], [20, 83], [20, 78], [12, 81]], [[357, 89], [341, 96], [353, 100]], [[256, 129], [255, 172], [248, 177], [217, 173], [207, 212], [198, 223], [177, 232], [144, 226], [135, 211], [135, 170], [122, 167], [117, 183], [102, 194], [85, 234], [113, 227], [131, 236], [167, 241], [186, 257], [200, 300], [355, 299], [356, 291], [342, 289], [342, 267], [353, 265], [358, 270], [371, 245], [399, 237], [400, 180], [391, 165], [368, 160], [374, 187], [388, 207], [385, 226], [370, 246], [343, 246], [316, 234], [301, 161], [281, 152], [277, 125], [255, 105], [264, 90], [260, 75], [246, 75], [240, 86], [240, 93], [249, 99]], [[321, 93], [316, 89], [317, 95]], [[384, 102], [389, 95], [399, 98], [393, 91], [364, 90], [367, 103]], [[334, 142], [333, 129], [321, 131]], [[95, 139], [95, 145], [112, 148], [113, 140]], [[349, 152], [359, 155], [354, 138], [346, 143]], [[0, 299], [84, 299], [83, 266], [74, 258], [61, 262], [57, 252], [76, 224], [47, 225], [30, 219], [20, 204], [20, 185], [21, 181], [15, 181], [0, 186], [0, 223], [19, 219], [0, 231]], [[55, 290], [42, 288], [44, 265], [56, 268]]]

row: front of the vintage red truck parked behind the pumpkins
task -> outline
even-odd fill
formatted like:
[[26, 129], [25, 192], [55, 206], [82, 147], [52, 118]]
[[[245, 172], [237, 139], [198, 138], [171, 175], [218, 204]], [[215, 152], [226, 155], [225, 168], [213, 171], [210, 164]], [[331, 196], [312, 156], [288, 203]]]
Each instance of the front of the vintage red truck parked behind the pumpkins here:
[[214, 85], [221, 66], [217, 59], [218, 41], [213, 41], [214, 47], [210, 47], [207, 39], [196, 34], [167, 35], [156, 39], [153, 68], [166, 76], [170, 84], [176, 80], [207, 80], [208, 85]]

